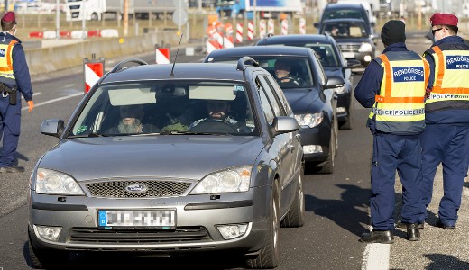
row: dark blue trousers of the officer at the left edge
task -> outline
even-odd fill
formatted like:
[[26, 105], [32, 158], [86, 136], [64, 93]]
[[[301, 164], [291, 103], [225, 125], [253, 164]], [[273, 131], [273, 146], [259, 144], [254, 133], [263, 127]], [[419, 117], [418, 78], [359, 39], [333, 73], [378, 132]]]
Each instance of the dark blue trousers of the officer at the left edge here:
[[21, 127], [21, 94], [16, 96], [16, 105], [10, 105], [9, 96], [0, 95], [0, 134], [3, 134], [3, 148], [0, 153], [0, 167], [13, 166]]

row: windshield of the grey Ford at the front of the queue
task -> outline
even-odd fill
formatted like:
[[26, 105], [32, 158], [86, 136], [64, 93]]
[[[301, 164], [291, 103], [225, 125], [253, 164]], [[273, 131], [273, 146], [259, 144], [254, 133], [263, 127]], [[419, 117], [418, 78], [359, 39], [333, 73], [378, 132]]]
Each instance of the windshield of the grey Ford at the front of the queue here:
[[256, 133], [244, 84], [152, 81], [100, 86], [68, 137]]

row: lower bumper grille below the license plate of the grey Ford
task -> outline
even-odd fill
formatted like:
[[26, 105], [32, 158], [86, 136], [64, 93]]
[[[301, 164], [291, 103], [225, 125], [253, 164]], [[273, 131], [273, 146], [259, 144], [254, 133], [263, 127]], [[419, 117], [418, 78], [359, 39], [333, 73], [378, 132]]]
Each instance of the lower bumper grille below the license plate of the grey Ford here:
[[69, 243], [152, 245], [211, 241], [204, 227], [178, 227], [174, 230], [72, 228], [69, 235]]

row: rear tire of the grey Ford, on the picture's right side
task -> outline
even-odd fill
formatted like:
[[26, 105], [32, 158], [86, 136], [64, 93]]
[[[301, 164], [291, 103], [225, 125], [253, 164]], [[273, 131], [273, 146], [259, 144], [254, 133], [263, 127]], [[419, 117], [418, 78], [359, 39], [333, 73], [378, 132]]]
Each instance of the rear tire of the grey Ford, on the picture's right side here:
[[305, 194], [303, 193], [302, 177], [303, 170], [301, 170], [301, 175], [299, 175], [299, 183], [297, 192], [295, 193], [295, 199], [293, 199], [289, 212], [285, 218], [281, 220], [281, 227], [301, 227], [305, 223]]

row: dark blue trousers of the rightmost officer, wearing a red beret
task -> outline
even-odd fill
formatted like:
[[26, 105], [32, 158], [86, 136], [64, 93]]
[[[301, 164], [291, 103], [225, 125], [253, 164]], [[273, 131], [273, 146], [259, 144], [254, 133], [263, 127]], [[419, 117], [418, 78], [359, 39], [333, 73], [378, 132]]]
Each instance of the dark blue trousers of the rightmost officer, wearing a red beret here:
[[[467, 175], [469, 156], [469, 126], [428, 124], [421, 135], [423, 203], [431, 202], [433, 181], [437, 166], [443, 166], [443, 198], [439, 203], [438, 217], [454, 226], [461, 206], [464, 177]], [[425, 211], [427, 218], [427, 211]]]

